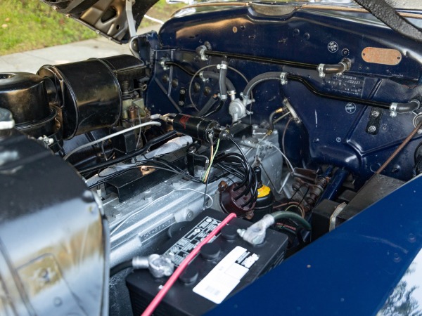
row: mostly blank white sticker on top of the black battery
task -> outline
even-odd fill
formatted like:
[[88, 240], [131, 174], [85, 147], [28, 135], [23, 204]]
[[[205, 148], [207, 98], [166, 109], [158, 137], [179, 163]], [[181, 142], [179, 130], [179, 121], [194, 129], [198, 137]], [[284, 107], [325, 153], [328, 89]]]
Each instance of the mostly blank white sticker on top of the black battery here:
[[259, 256], [236, 246], [193, 288], [193, 292], [219, 304], [224, 301]]

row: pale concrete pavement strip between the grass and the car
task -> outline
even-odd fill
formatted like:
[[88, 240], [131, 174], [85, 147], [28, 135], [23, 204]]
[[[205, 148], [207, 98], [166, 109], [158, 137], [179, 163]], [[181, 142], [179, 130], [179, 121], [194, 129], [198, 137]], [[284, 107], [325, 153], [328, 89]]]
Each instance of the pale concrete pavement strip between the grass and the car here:
[[[157, 31], [161, 25], [143, 27], [138, 34]], [[58, 65], [68, 62], [87, 60], [88, 58], [103, 58], [113, 55], [129, 54], [127, 44], [117, 44], [105, 37], [77, 41], [71, 44], [14, 53], [0, 56], [0, 72], [31, 72], [36, 73], [43, 65]]]

